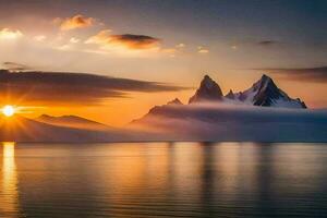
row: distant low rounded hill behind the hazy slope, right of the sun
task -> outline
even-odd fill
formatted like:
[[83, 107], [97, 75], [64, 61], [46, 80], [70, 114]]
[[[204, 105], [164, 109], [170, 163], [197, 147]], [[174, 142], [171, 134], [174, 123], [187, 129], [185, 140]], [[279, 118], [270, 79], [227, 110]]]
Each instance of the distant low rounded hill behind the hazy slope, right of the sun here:
[[66, 126], [66, 128], [76, 128], [76, 129], [85, 129], [85, 130], [107, 130], [110, 126], [105, 125], [99, 122], [95, 122], [93, 120], [88, 120], [85, 118], [81, 118], [77, 116], [61, 116], [61, 117], [52, 117], [48, 114], [43, 114], [36, 118], [37, 121], [43, 123], [48, 123], [51, 125], [58, 126]]

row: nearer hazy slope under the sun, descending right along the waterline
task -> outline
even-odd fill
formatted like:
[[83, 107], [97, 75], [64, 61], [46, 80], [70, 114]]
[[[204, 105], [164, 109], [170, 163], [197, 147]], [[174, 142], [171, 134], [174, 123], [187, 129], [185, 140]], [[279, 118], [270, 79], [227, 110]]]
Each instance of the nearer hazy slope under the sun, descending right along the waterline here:
[[131, 142], [143, 137], [122, 129], [86, 130], [52, 125], [21, 116], [0, 116], [0, 142]]

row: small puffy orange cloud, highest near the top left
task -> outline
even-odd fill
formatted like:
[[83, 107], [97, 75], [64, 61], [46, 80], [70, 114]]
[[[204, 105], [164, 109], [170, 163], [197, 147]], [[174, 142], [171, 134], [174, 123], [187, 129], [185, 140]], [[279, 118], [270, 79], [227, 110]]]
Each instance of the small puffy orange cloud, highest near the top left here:
[[53, 20], [53, 22], [56, 24], [60, 24], [61, 31], [71, 31], [75, 28], [85, 28], [93, 26], [96, 20], [94, 17], [86, 17], [81, 14], [77, 14], [75, 16], [68, 17], [64, 20], [57, 17]]

